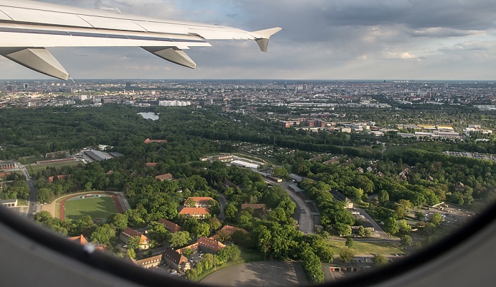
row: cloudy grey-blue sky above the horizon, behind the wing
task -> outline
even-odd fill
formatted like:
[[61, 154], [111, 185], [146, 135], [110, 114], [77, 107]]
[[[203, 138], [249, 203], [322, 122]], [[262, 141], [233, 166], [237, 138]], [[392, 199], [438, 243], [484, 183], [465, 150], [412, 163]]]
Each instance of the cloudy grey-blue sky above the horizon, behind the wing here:
[[[140, 49], [52, 48], [74, 79], [496, 79], [494, 0], [44, 0], [243, 30], [276, 26], [269, 52], [215, 40], [201, 70]], [[47, 79], [0, 58], [0, 79]]]

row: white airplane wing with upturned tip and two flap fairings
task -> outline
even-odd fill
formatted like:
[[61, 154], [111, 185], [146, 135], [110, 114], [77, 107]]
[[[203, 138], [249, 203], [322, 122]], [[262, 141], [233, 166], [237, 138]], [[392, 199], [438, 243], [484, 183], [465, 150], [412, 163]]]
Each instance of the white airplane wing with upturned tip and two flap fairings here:
[[191, 69], [184, 52], [207, 40], [255, 40], [266, 52], [281, 28], [249, 32], [227, 26], [133, 16], [27, 0], [0, 0], [0, 55], [57, 79], [69, 74], [46, 47], [142, 47]]

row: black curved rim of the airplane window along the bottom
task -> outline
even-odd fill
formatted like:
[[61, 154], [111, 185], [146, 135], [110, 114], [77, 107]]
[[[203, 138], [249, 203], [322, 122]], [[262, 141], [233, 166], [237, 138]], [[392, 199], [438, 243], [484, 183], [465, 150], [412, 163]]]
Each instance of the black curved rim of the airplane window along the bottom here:
[[[485, 210], [481, 210], [478, 216], [475, 216], [473, 220], [463, 227], [402, 260], [357, 276], [332, 282], [318, 283], [315, 286], [371, 286], [387, 283], [407, 272], [415, 271], [419, 267], [431, 263], [434, 259], [439, 259], [443, 255], [446, 255], [447, 252], [461, 247], [470, 239], [483, 233], [495, 221], [496, 203], [492, 203]], [[47, 247], [54, 252], [86, 264], [98, 271], [118, 276], [130, 283], [137, 283], [142, 286], [162, 286], [164, 283], [181, 284], [183, 286], [208, 286], [202, 283], [184, 281], [173, 276], [157, 274], [128, 261], [113, 257], [105, 252], [92, 252], [87, 246], [71, 242], [57, 235], [55, 232], [48, 230], [46, 227], [22, 218], [4, 206], [0, 206], [0, 223], [3, 223], [15, 232], [18, 232], [19, 235], [37, 242], [43, 247]], [[68, 266], [68, 268], [75, 267]]]

